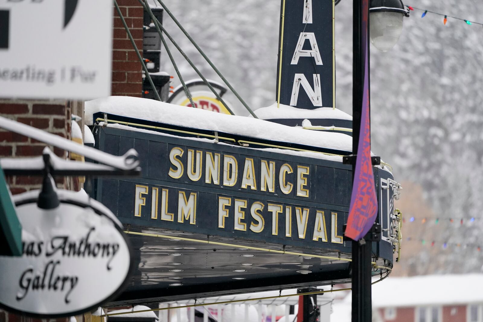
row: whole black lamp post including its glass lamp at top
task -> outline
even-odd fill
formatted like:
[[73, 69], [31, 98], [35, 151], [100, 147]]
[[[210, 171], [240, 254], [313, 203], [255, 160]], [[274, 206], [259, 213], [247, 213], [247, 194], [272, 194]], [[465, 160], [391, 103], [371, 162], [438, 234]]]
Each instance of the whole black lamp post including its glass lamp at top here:
[[[365, 64], [369, 71], [369, 39], [385, 52], [398, 42], [404, 16], [409, 16], [401, 0], [354, 0], [353, 27], [353, 155], [357, 155], [361, 127]], [[370, 13], [370, 14], [369, 14]], [[364, 27], [364, 28], [363, 28]], [[370, 31], [370, 32], [369, 32]], [[367, 50], [367, 53], [366, 53]], [[367, 61], [366, 61], [367, 57]], [[369, 76], [369, 75], [368, 75]], [[370, 96], [370, 77], [368, 77]], [[370, 101], [370, 100], [369, 100]], [[369, 109], [370, 111], [370, 109]], [[370, 135], [370, 134], [369, 134]], [[355, 160], [352, 162], [353, 176]], [[354, 177], [353, 177], [354, 178]], [[371, 234], [368, 234], [369, 236]], [[352, 321], [371, 322], [372, 240], [352, 242]]]

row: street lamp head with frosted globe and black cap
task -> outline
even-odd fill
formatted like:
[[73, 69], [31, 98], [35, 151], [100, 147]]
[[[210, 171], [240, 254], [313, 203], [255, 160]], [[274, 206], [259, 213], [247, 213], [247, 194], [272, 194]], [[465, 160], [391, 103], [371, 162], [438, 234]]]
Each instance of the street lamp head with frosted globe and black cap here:
[[409, 17], [409, 10], [402, 0], [370, 0], [369, 38], [374, 47], [387, 52], [396, 45], [404, 16]]

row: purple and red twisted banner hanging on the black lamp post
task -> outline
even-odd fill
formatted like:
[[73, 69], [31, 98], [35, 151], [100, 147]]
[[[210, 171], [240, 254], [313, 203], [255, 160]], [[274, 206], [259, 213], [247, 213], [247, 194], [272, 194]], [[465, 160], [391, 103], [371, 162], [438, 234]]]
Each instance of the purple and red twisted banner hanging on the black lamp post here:
[[351, 206], [345, 236], [354, 240], [363, 238], [374, 224], [377, 216], [377, 196], [370, 157], [369, 120], [369, 43], [368, 10], [369, 0], [362, 2], [362, 50], [365, 57], [364, 88], [362, 97], [361, 127], [355, 163]]

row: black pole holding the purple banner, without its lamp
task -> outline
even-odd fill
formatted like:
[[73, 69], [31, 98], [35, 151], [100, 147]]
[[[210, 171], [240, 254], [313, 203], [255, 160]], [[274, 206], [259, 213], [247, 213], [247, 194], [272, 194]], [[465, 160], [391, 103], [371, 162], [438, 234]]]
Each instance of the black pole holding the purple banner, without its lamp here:
[[[367, 29], [363, 29], [363, 19], [367, 21]], [[362, 99], [364, 88], [364, 68], [366, 48], [369, 64], [369, 0], [354, 0], [353, 30], [353, 154], [357, 155], [361, 126]], [[369, 65], [368, 65], [369, 67]], [[368, 69], [369, 70], [369, 69]], [[369, 85], [369, 84], [368, 84]], [[355, 162], [352, 166], [353, 181]], [[352, 322], [372, 321], [371, 302], [371, 248], [370, 240], [361, 239], [352, 242]]]

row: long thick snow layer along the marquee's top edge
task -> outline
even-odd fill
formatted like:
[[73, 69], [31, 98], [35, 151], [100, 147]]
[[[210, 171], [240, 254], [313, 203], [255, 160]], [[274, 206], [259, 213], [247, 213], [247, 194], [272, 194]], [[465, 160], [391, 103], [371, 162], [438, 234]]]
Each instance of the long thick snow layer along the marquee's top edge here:
[[[337, 110], [327, 110], [330, 110], [326, 113], [327, 117], [329, 117], [328, 115], [335, 117], [335, 114], [345, 114]], [[159, 102], [153, 99], [112, 96], [87, 101], [85, 102], [86, 124], [93, 124], [92, 115], [96, 112], [232, 133], [264, 140], [284, 141], [341, 151], [352, 150], [352, 138], [345, 134], [304, 130], [251, 117], [214, 113], [202, 109]], [[298, 113], [302, 112], [298, 110]], [[298, 115], [298, 118], [300, 117]], [[317, 118], [320, 117], [317, 116]], [[347, 115], [347, 117], [350, 116]]]

